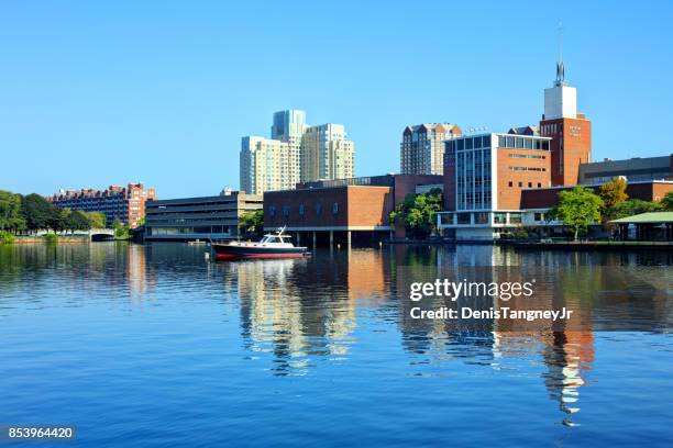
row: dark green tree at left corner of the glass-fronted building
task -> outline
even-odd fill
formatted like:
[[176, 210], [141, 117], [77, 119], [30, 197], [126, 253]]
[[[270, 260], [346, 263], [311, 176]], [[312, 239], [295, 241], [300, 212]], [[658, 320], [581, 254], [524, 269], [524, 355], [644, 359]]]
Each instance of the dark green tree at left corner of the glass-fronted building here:
[[415, 236], [424, 238], [434, 229], [435, 215], [440, 210], [441, 190], [433, 189], [428, 193], [407, 194], [405, 201], [390, 212], [389, 220], [394, 225], [404, 225]]

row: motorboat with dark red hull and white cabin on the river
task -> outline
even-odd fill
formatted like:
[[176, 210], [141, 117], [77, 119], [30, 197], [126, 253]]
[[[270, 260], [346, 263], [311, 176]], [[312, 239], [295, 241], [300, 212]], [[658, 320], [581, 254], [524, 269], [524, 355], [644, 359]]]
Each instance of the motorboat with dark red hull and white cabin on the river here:
[[217, 259], [228, 258], [298, 258], [309, 255], [306, 247], [295, 247], [285, 235], [285, 227], [264, 235], [257, 242], [211, 243]]

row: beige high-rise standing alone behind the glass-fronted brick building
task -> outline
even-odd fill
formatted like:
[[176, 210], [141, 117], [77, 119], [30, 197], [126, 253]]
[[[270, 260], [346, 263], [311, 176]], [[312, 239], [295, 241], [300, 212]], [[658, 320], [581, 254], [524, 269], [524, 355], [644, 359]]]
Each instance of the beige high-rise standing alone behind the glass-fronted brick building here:
[[423, 123], [407, 126], [399, 149], [402, 175], [442, 175], [444, 141], [457, 137], [462, 131], [455, 124]]

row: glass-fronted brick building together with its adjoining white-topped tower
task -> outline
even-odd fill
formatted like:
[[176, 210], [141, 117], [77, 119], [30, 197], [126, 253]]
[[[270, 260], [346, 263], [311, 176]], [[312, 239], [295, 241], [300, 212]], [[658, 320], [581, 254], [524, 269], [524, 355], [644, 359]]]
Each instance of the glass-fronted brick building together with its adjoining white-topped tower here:
[[522, 225], [525, 191], [574, 186], [591, 161], [592, 124], [577, 113], [577, 92], [564, 78], [544, 90], [539, 125], [507, 134], [461, 136], [444, 142], [444, 209], [440, 232], [456, 239], [498, 238]]

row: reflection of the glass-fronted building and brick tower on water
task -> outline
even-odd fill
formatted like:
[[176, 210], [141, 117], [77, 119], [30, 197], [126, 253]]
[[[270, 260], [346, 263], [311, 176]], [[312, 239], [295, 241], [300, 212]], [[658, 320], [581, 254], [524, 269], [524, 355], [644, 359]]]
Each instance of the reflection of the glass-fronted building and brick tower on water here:
[[[437, 262], [428, 262], [433, 249], [398, 250], [401, 260], [394, 273], [399, 300], [399, 326], [402, 346], [407, 351], [428, 361], [460, 361], [500, 369], [509, 360], [526, 359], [544, 365], [541, 373], [550, 399], [562, 412], [562, 423], [575, 425], [573, 415], [580, 412], [580, 390], [587, 384], [587, 374], [594, 362], [594, 333], [592, 303], [586, 299], [595, 291], [607, 288], [608, 279], [600, 270], [580, 269], [561, 273], [558, 258], [538, 259], [534, 264], [514, 251], [485, 246], [456, 246], [437, 249]], [[567, 266], [567, 265], [565, 265]], [[529, 267], [527, 269], [527, 267]], [[448, 278], [460, 281], [514, 282], [534, 277], [539, 282], [530, 299], [472, 300], [460, 306], [476, 310], [497, 310], [506, 303], [516, 310], [558, 310], [566, 306], [574, 311], [570, 321], [562, 323], [486, 320], [416, 320], [410, 310], [419, 302], [408, 300], [411, 282]], [[573, 285], [573, 287], [570, 287]], [[407, 296], [405, 296], [405, 294]], [[443, 298], [423, 299], [421, 307], [437, 310], [452, 306]], [[418, 362], [418, 361], [417, 361]]]

